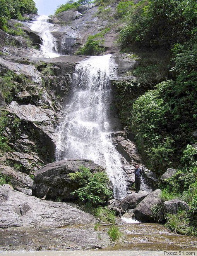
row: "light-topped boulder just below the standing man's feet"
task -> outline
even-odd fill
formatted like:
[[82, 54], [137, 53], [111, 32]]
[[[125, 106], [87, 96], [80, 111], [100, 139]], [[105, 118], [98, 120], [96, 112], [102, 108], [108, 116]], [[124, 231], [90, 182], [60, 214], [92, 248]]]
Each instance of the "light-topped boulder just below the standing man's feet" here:
[[121, 200], [120, 206], [123, 211], [134, 209], [148, 194], [149, 193], [142, 190], [140, 190], [139, 193], [132, 193]]

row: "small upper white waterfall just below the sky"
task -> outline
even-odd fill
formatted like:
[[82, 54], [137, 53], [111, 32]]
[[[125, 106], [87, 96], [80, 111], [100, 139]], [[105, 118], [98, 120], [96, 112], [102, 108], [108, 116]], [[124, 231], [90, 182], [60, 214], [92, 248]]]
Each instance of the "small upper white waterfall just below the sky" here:
[[40, 34], [40, 37], [43, 40], [40, 51], [43, 52], [45, 57], [53, 58], [61, 56], [55, 52], [55, 43], [54, 37], [51, 34], [50, 30], [53, 27], [53, 24], [48, 23], [48, 16], [38, 16], [35, 21], [29, 26], [33, 31], [36, 31]]

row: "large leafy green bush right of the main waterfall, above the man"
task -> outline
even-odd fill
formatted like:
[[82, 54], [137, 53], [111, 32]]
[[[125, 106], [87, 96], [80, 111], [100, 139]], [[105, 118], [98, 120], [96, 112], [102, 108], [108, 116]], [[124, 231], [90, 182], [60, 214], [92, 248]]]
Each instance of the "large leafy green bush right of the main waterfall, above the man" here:
[[156, 85], [133, 104], [131, 127], [149, 167], [162, 171], [179, 161], [197, 128], [197, 43], [175, 45], [175, 80]]

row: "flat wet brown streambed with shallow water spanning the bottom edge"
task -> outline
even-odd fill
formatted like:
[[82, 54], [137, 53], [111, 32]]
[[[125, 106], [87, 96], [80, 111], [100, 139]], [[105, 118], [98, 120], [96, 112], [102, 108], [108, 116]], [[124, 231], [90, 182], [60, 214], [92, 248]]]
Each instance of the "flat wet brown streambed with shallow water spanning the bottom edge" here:
[[5, 250], [195, 250], [197, 238], [170, 232], [163, 225], [150, 223], [122, 223], [123, 233], [118, 243], [111, 243], [107, 231], [110, 226], [101, 225], [98, 231], [93, 225], [74, 225], [68, 228], [7, 228], [0, 229], [0, 247]]

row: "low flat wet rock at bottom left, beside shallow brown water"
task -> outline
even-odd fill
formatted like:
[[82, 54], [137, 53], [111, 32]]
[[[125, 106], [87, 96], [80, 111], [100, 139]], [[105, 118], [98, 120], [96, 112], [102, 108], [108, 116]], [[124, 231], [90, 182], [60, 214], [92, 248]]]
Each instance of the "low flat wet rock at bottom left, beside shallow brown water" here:
[[[0, 229], [0, 247], [12, 250], [88, 250], [111, 244], [106, 232], [84, 225], [72, 228], [9, 228]], [[48, 254], [48, 253], [47, 253]]]

